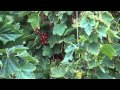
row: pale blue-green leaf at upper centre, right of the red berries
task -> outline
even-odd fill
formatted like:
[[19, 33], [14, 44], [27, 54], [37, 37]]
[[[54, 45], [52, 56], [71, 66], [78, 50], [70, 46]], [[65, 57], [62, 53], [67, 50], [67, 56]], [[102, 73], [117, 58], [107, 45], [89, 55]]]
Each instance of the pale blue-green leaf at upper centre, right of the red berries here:
[[65, 29], [67, 28], [66, 24], [61, 23], [61, 24], [56, 24], [53, 28], [53, 35], [59, 35], [62, 36], [63, 33], [65, 32]]

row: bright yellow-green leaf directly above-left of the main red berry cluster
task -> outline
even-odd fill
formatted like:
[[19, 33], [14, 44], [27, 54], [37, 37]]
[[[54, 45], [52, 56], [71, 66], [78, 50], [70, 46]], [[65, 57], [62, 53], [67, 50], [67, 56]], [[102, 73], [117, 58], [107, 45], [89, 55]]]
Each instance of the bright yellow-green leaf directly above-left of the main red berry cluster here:
[[40, 21], [41, 18], [38, 13], [32, 13], [28, 19], [28, 22], [31, 23], [32, 28], [38, 28], [40, 29]]

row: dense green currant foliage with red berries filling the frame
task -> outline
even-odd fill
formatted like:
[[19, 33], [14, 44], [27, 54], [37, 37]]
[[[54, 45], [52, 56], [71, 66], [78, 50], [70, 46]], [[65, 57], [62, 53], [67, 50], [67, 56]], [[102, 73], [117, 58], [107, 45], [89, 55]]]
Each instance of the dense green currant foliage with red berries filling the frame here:
[[0, 11], [0, 78], [120, 78], [120, 13]]

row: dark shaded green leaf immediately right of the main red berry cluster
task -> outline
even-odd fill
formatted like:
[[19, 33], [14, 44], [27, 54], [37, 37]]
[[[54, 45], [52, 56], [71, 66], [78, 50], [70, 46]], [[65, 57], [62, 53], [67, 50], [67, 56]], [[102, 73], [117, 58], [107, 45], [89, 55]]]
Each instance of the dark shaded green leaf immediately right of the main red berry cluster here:
[[60, 36], [57, 35], [52, 35], [49, 39], [48, 39], [48, 43], [50, 43], [50, 48], [52, 48], [56, 43], [58, 43], [61, 40]]

